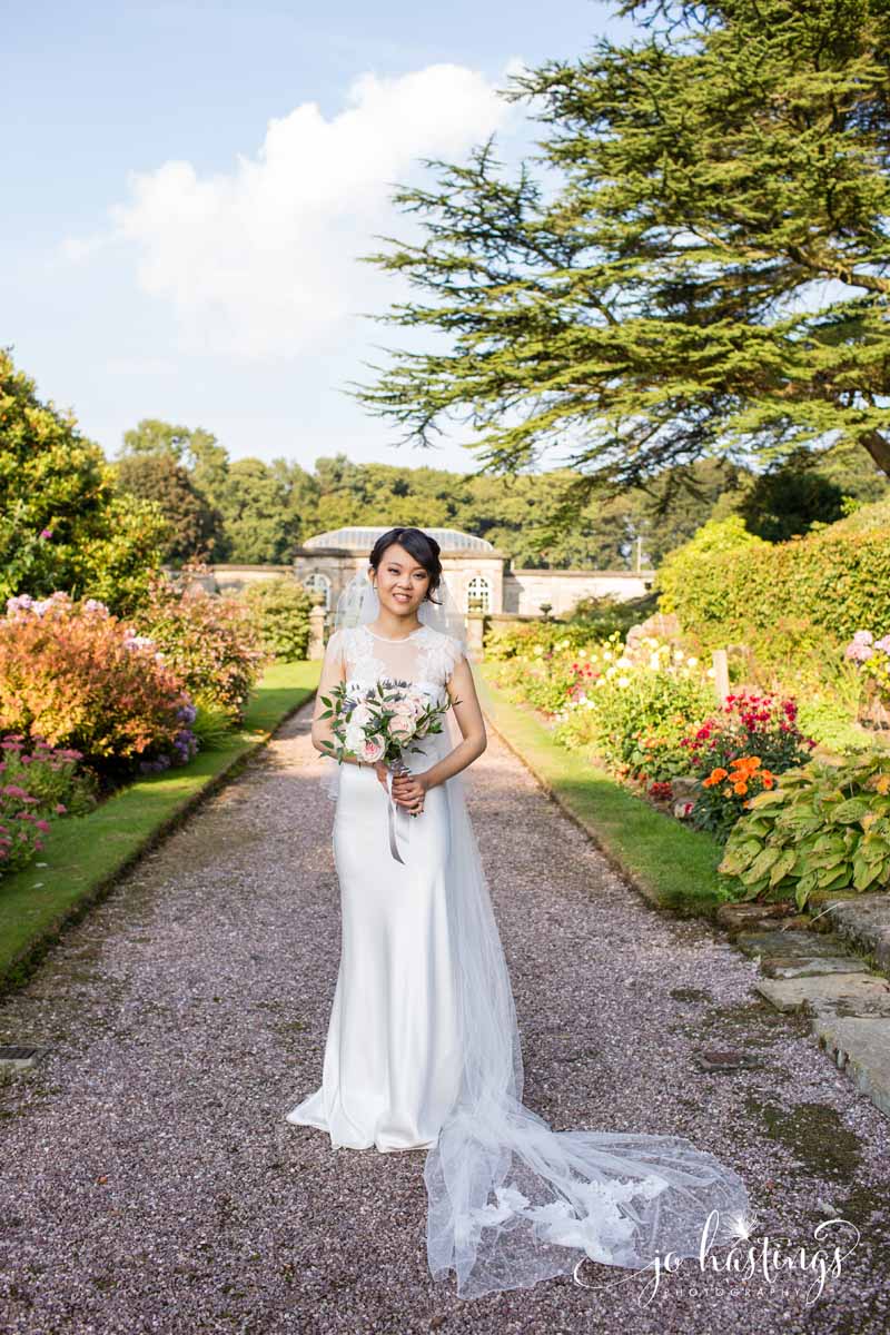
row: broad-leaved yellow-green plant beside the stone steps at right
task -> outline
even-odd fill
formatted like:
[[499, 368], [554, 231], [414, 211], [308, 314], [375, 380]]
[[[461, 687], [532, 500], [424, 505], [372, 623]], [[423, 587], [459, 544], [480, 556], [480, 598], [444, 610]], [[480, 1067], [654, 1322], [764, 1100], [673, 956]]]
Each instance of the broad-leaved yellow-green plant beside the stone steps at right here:
[[890, 880], [890, 756], [787, 770], [735, 824], [718, 870], [738, 900], [877, 890]]

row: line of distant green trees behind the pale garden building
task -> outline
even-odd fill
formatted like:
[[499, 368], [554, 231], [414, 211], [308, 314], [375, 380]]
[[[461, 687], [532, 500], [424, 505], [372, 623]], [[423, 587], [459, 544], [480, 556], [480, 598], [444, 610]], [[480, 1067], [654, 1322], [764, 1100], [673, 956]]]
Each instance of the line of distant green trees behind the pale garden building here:
[[777, 542], [890, 495], [867, 455], [845, 446], [801, 450], [759, 474], [702, 459], [682, 487], [669, 469], [619, 494], [592, 489], [576, 507], [586, 479], [572, 469], [462, 474], [336, 454], [310, 471], [288, 459], [230, 459], [209, 431], [155, 419], [125, 433], [113, 474], [121, 493], [156, 503], [167, 523], [164, 558], [175, 565], [283, 565], [316, 533], [404, 523], [487, 538], [515, 566], [627, 569], [638, 550], [658, 566], [710, 518], [739, 513], [751, 533]]

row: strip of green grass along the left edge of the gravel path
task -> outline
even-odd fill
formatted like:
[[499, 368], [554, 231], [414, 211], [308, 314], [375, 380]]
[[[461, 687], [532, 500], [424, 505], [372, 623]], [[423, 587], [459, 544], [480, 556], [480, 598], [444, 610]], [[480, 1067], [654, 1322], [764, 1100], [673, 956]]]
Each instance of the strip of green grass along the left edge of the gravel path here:
[[226, 776], [238, 772], [318, 686], [320, 662], [276, 663], [258, 685], [240, 732], [183, 769], [149, 774], [88, 816], [55, 821], [37, 862], [0, 881], [0, 991], [15, 987], [115, 877]]

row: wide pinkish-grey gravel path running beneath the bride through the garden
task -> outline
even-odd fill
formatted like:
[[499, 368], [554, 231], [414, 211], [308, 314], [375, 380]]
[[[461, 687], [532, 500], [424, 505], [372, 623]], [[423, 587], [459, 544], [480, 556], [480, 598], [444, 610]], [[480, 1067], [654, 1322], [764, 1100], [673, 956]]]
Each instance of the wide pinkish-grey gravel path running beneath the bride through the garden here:
[[[424, 1153], [332, 1151], [284, 1111], [320, 1080], [339, 955], [332, 805], [311, 706], [0, 1005], [48, 1044], [0, 1088], [4, 1332], [825, 1331], [887, 1327], [889, 1124], [755, 965], [624, 886], [490, 736], [471, 810], [511, 969], [526, 1103], [554, 1128], [679, 1132], [746, 1177], [755, 1236], [862, 1238], [839, 1279], [730, 1283], [695, 1262], [658, 1291], [584, 1267], [460, 1302], [424, 1251]], [[703, 1075], [741, 1040], [761, 1069]], [[831, 1235], [831, 1244], [834, 1235]], [[815, 1290], [813, 1288], [813, 1294]], [[811, 1296], [813, 1296], [811, 1294]]]

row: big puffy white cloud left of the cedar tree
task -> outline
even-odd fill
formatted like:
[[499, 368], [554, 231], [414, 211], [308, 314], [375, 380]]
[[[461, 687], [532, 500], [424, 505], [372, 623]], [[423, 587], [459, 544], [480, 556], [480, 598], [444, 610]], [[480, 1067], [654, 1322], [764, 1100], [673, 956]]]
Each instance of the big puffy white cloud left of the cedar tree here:
[[[179, 350], [295, 356], [355, 335], [395, 280], [356, 258], [374, 234], [404, 236], [394, 184], [422, 179], [419, 158], [460, 158], [514, 116], [495, 84], [459, 65], [359, 77], [330, 120], [303, 103], [268, 121], [256, 158], [200, 178], [191, 163], [132, 172], [105, 243], [137, 248], [137, 283], [175, 312]], [[68, 239], [89, 259], [101, 239]], [[367, 331], [371, 326], [366, 324]]]

